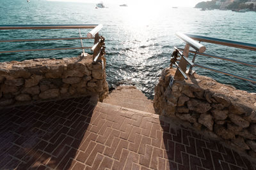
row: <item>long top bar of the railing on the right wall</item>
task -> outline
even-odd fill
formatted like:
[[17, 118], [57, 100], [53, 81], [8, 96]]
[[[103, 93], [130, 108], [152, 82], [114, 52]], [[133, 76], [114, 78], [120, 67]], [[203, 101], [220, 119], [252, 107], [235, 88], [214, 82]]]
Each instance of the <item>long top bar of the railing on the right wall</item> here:
[[243, 48], [246, 50], [256, 51], [256, 45], [251, 44], [251, 43], [243, 43], [243, 42], [232, 41], [232, 40], [228, 40], [228, 39], [211, 38], [211, 37], [207, 37], [207, 36], [197, 36], [197, 35], [193, 35], [193, 34], [186, 34], [186, 36], [188, 36], [192, 39], [195, 39], [197, 41], [202, 41], [202, 42], [206, 42], [206, 43], [214, 43], [217, 45], [232, 46], [232, 47], [236, 47], [236, 48]]

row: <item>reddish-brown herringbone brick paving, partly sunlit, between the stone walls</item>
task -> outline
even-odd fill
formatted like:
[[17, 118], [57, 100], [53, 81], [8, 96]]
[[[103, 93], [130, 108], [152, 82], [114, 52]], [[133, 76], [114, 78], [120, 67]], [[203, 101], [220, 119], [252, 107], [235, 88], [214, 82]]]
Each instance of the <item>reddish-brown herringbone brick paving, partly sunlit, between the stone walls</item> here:
[[255, 169], [168, 118], [93, 101], [0, 110], [0, 169]]

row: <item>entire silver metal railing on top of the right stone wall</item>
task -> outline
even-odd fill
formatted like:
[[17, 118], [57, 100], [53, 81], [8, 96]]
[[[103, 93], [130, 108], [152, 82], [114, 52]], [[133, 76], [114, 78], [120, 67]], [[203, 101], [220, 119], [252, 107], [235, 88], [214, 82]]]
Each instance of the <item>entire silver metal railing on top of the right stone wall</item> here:
[[[176, 35], [179, 36], [180, 39], [182, 39], [183, 41], [185, 41], [187, 43], [185, 48], [174, 47], [175, 51], [178, 52], [180, 54], [180, 56], [182, 56], [184, 58], [183, 60], [180, 60], [179, 65], [177, 66], [177, 70], [179, 70], [179, 73], [181, 73], [181, 75], [184, 78], [186, 78], [186, 77], [183, 74], [184, 74], [184, 72], [186, 72], [187, 64], [189, 64], [189, 65], [191, 65], [191, 67], [189, 69], [189, 74], [191, 73], [192, 67], [196, 66], [196, 67], [201, 67], [203, 69], [208, 69], [208, 70], [214, 71], [216, 73], [226, 74], [228, 76], [233, 76], [233, 77], [239, 78], [241, 80], [247, 80], [247, 81], [251, 81], [253, 83], [256, 83], [256, 80], [254, 80], [252, 78], [246, 78], [244, 76], [239, 76], [237, 74], [227, 73], [225, 71], [220, 71], [218, 69], [213, 69], [213, 68], [210, 68], [210, 67], [205, 67], [205, 66], [201, 66], [199, 64], [195, 64], [194, 61], [195, 61], [196, 55], [203, 55], [203, 56], [212, 57], [212, 58], [215, 58], [215, 59], [227, 60], [227, 61], [230, 61], [230, 62], [243, 64], [243, 65], [250, 66], [250, 67], [256, 67], [256, 64], [252, 64], [250, 62], [243, 62], [243, 61], [240, 61], [240, 60], [228, 59], [227, 57], [219, 57], [219, 56], [216, 56], [216, 55], [209, 55], [207, 53], [204, 53], [204, 52], [202, 52], [202, 50], [200, 50], [200, 46], [198, 44], [191, 41], [191, 38], [193, 40], [204, 41], [204, 42], [207, 42], [207, 43], [214, 43], [214, 44], [218, 44], [218, 45], [232, 46], [232, 47], [236, 47], [236, 48], [243, 48], [243, 49], [246, 49], [246, 50], [253, 50], [253, 51], [256, 51], [256, 45], [251, 44], [251, 43], [242, 43], [242, 42], [239, 42], [239, 41], [231, 41], [231, 40], [227, 40], [227, 39], [218, 39], [218, 38], [210, 38], [210, 37], [205, 37], [205, 36], [196, 36], [196, 35], [193, 35], [193, 34], [177, 33]], [[189, 50], [189, 46], [192, 46], [196, 51]], [[184, 57], [183, 53], [180, 52], [179, 50], [182, 50], [183, 53], [186, 53], [185, 57], [188, 56], [188, 53], [194, 53], [195, 55], [193, 57], [193, 61], [191, 62], [190, 60], [186, 59]], [[177, 64], [175, 64], [175, 65], [177, 65]], [[180, 71], [180, 66], [183, 67], [182, 71]], [[179, 73], [177, 73], [177, 72], [175, 73], [176, 78], [180, 78]], [[174, 78], [175, 78], [175, 76], [174, 76]]]

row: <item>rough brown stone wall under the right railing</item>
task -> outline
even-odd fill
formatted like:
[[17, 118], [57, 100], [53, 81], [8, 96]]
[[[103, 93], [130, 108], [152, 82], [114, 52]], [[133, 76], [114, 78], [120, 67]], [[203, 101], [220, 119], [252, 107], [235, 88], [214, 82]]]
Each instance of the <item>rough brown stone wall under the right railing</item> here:
[[159, 78], [154, 97], [157, 114], [185, 120], [256, 157], [256, 94], [198, 74], [172, 84], [175, 71], [164, 69]]

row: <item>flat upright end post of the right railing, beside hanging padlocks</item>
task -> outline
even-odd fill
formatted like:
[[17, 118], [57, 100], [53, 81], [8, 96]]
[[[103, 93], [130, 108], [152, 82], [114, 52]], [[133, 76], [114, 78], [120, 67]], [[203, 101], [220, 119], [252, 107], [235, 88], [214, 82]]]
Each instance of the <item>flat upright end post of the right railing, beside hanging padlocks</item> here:
[[[184, 51], [183, 51], [183, 55], [184, 55], [184, 57], [188, 58], [188, 54], [189, 54], [189, 45], [186, 44]], [[187, 64], [188, 64], [188, 62], [185, 59], [183, 59], [183, 57], [181, 57], [180, 62], [179, 62], [179, 67], [184, 73], [186, 73]], [[182, 75], [182, 73], [180, 73], [179, 69], [177, 69], [177, 71], [174, 75], [174, 79], [184, 80], [184, 76]]]

